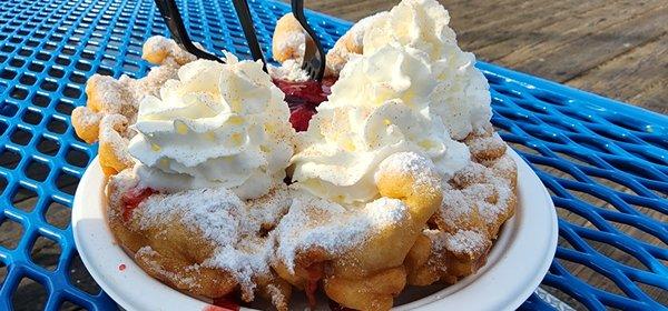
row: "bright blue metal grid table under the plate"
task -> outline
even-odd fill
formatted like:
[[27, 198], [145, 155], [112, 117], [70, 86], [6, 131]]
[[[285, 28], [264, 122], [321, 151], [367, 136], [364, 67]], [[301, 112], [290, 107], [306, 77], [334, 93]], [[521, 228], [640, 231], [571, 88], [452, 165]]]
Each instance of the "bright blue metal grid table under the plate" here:
[[[183, 0], [195, 41], [249, 58], [226, 0]], [[250, 1], [269, 56], [288, 8]], [[455, 12], [456, 13], [456, 12]], [[351, 26], [311, 13], [325, 47]], [[153, 0], [0, 1], [0, 310], [27, 300], [47, 310], [115, 310], [80, 264], [69, 223], [73, 190], [95, 146], [69, 122], [94, 73], [143, 77], [141, 44], [167, 34]], [[666, 309], [668, 295], [668, 118], [489, 63], [493, 123], [537, 171], [560, 220], [557, 258], [521, 309]], [[9, 232], [9, 233], [8, 233]], [[13, 237], [13, 238], [12, 238]], [[57, 251], [50, 263], [43, 245]], [[48, 261], [48, 260], [47, 260]], [[606, 280], [579, 279], [591, 270]], [[40, 297], [23, 297], [38, 288]], [[35, 291], [30, 291], [35, 292]], [[35, 301], [32, 301], [35, 303]], [[17, 305], [14, 305], [17, 304]]]

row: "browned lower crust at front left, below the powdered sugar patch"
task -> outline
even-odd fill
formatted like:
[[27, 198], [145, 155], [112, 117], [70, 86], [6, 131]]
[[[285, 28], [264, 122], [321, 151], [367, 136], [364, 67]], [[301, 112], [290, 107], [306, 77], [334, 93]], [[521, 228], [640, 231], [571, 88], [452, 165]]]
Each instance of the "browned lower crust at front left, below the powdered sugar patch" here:
[[[214, 255], [215, 244], [204, 238], [196, 227], [188, 225], [174, 214], [149, 224], [141, 223], [143, 205], [128, 217], [124, 195], [137, 187], [129, 170], [112, 175], [107, 185], [108, 222], [119, 244], [128, 251], [141, 269], [164, 283], [206, 298], [220, 298], [239, 288], [236, 277], [205, 262]], [[254, 280], [257, 292], [274, 303], [278, 310], [287, 310], [292, 288], [274, 272]], [[245, 301], [253, 293], [242, 291]]]

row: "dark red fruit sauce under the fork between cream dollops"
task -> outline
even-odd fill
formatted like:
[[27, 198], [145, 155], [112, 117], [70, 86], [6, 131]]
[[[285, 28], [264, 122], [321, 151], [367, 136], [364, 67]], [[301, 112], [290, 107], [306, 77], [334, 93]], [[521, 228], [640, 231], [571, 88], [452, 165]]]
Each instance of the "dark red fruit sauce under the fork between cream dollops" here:
[[322, 83], [315, 80], [292, 82], [274, 79], [274, 84], [285, 93], [291, 112], [289, 122], [295, 130], [305, 131], [308, 128], [308, 120], [315, 114], [315, 108], [327, 100], [334, 82], [336, 78], [325, 78]]

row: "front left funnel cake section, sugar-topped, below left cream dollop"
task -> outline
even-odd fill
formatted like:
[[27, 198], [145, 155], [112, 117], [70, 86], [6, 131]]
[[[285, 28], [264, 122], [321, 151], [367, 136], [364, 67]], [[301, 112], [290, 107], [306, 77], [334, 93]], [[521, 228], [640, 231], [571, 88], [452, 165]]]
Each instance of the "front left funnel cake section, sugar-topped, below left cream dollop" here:
[[287, 212], [286, 187], [254, 200], [226, 188], [155, 193], [130, 170], [111, 177], [108, 221], [118, 242], [144, 271], [166, 284], [205, 298], [237, 289], [287, 310], [292, 288], [268, 265], [273, 239], [266, 232]]

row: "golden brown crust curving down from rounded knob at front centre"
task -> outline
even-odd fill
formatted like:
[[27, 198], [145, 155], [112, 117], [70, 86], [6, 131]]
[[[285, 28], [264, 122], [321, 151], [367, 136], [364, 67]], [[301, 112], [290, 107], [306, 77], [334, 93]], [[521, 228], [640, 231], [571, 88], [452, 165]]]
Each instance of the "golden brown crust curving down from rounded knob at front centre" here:
[[[410, 217], [374, 230], [344, 253], [310, 248], [297, 252], [294, 271], [281, 260], [274, 263], [274, 269], [293, 285], [305, 288], [310, 269], [324, 264], [324, 290], [332, 300], [357, 310], [390, 309], [406, 283], [404, 259], [442, 201], [441, 179], [428, 162], [418, 154], [391, 157], [381, 163], [375, 177], [380, 195], [400, 200]], [[402, 164], [420, 169], [405, 169]]]

